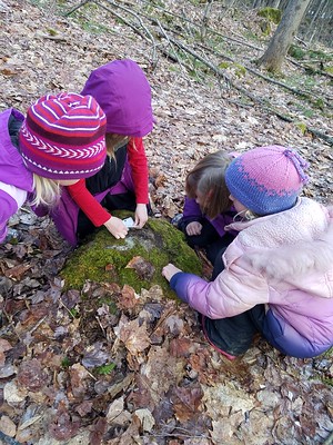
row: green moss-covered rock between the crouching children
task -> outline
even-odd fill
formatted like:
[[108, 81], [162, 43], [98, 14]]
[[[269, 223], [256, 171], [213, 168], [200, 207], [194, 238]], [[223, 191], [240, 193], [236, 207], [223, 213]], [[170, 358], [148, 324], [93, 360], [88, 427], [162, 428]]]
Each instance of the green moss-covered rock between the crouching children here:
[[85, 280], [121, 287], [127, 284], [137, 293], [160, 285], [167, 297], [174, 298], [161, 275], [168, 263], [189, 273], [202, 273], [202, 264], [183, 234], [167, 220], [150, 218], [143, 229], [130, 229], [124, 239], [115, 239], [101, 228], [71, 254], [60, 275], [67, 289], [81, 290]]

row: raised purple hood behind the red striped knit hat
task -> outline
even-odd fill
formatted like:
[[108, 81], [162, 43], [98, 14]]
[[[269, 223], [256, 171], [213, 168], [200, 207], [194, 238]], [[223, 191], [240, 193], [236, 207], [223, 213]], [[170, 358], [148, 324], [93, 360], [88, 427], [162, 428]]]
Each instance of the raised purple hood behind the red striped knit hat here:
[[93, 96], [102, 107], [107, 132], [133, 137], [151, 132], [151, 89], [133, 60], [114, 60], [93, 70], [81, 95]]

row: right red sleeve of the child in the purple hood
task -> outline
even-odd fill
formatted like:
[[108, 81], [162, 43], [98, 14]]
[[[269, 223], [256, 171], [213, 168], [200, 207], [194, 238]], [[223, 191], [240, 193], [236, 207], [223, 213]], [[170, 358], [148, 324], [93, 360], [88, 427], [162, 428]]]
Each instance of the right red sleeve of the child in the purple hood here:
[[148, 161], [142, 138], [131, 138], [128, 145], [129, 162], [132, 168], [137, 204], [149, 204]]

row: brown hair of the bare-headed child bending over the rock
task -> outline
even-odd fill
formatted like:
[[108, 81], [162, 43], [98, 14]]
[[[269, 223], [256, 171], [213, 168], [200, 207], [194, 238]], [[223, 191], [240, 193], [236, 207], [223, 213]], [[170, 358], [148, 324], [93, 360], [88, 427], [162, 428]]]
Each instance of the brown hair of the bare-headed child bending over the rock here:
[[200, 204], [201, 211], [209, 218], [213, 219], [231, 207], [230, 191], [224, 180], [231, 160], [231, 156], [221, 150], [209, 154], [186, 176], [188, 197], [194, 199], [200, 192], [204, 197]]

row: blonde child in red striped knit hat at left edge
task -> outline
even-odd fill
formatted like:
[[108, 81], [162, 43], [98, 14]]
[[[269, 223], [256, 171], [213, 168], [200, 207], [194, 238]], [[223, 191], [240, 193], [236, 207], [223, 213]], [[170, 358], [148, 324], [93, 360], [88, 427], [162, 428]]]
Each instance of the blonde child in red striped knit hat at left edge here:
[[107, 118], [91, 96], [61, 93], [0, 113], [0, 243], [18, 209], [53, 206], [61, 186], [99, 171], [107, 156]]

